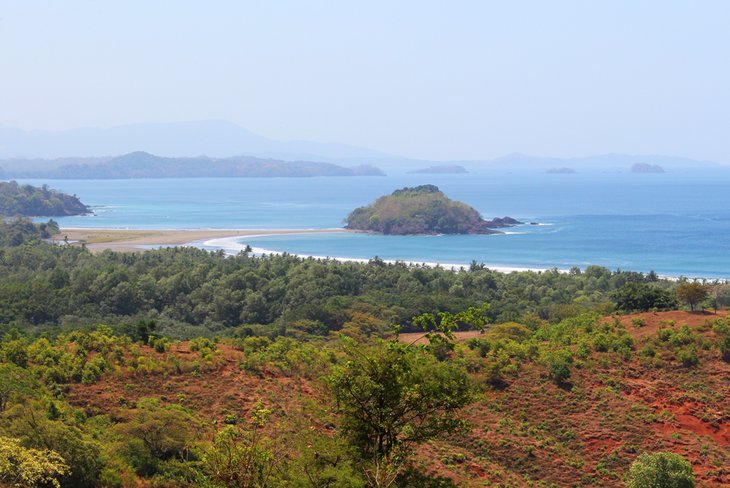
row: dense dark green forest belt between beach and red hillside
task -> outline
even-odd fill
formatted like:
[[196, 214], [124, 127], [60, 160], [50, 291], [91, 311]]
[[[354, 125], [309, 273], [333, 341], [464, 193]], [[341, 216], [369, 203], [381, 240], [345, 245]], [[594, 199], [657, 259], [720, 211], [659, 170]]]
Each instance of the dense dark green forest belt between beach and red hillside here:
[[32, 244], [39, 232], [32, 224], [12, 229], [17, 238], [3, 232], [0, 241], [25, 244], [2, 249], [0, 330], [14, 324], [38, 334], [106, 323], [134, 336], [140, 320], [154, 320], [153, 333], [172, 338], [264, 330], [306, 336], [344, 327], [388, 332], [392, 324], [412, 329], [416, 315], [483, 303], [491, 304], [493, 322], [559, 322], [588, 310], [612, 312], [613, 293], [626, 283], [668, 294], [676, 286], [600, 267], [504, 274], [475, 263], [453, 272], [378, 259], [226, 257], [193, 248], [94, 255], [74, 246]]

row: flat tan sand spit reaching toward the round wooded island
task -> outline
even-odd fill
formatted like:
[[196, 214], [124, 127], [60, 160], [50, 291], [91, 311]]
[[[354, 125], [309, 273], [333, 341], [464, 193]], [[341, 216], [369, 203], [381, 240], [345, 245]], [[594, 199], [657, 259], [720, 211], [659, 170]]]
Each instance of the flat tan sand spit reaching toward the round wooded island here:
[[84, 243], [92, 252], [105, 249], [140, 252], [156, 246], [184, 246], [196, 241], [223, 237], [347, 232], [345, 229], [224, 229], [224, 230], [164, 230], [164, 229], [80, 229], [64, 228], [53, 238], [56, 242]]

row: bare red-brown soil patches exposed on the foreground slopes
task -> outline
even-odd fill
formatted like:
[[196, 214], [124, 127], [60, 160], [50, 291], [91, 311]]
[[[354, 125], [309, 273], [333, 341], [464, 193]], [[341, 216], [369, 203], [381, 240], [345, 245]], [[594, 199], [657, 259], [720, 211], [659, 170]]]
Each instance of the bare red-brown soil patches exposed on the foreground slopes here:
[[[725, 313], [663, 312], [621, 317], [636, 339], [636, 349], [660, 327], [686, 324], [707, 338], [707, 319]], [[636, 327], [633, 318], [645, 325]], [[613, 320], [607, 317], [607, 321]], [[402, 334], [417, 341], [422, 334]], [[479, 332], [459, 332], [466, 340]], [[69, 400], [91, 413], [114, 412], [141, 397], [180, 403], [220, 422], [245, 415], [258, 401], [275, 414], [302, 408], [307, 399], [329, 401], [314, 382], [239, 367], [243, 353], [225, 345], [218, 366], [200, 374], [108, 375], [94, 385], [72, 385]], [[145, 355], [153, 356], [151, 350]], [[197, 353], [176, 347], [169, 353], [192, 360]], [[700, 350], [700, 363], [685, 368], [674, 357], [662, 364], [633, 354], [594, 353], [574, 364], [571, 385], [559, 387], [541, 366], [526, 362], [501, 389], [487, 390], [464, 413], [468, 432], [441, 438], [418, 449], [418, 462], [433, 476], [460, 486], [621, 486], [642, 452], [673, 451], [687, 459], [701, 486], [730, 486], [730, 365], [716, 350]], [[579, 362], [580, 363], [580, 362]], [[478, 378], [477, 378], [478, 380]]]

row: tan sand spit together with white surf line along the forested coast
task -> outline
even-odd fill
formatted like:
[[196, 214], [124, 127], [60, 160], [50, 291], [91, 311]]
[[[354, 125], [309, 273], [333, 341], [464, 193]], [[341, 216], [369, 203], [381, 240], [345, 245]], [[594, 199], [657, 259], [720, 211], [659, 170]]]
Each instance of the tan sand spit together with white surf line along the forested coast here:
[[[361, 231], [331, 228], [331, 229], [119, 229], [119, 228], [91, 228], [91, 227], [69, 227], [62, 228], [58, 235], [51, 238], [51, 241], [61, 244], [68, 238], [72, 245], [81, 243], [93, 253], [110, 250], [114, 252], [144, 252], [159, 247], [191, 246], [206, 250], [223, 250], [227, 254], [235, 255], [246, 248], [246, 244], [238, 242], [245, 237], [265, 237], [272, 235], [294, 235], [294, 234], [327, 234], [327, 233], [358, 233]], [[251, 246], [254, 255], [279, 255], [286, 251], [272, 251], [269, 249]], [[316, 256], [286, 252], [300, 258], [330, 259], [338, 262], [367, 263], [371, 258], [351, 258], [336, 256]], [[403, 263], [408, 266], [426, 266], [430, 268], [440, 267], [452, 271], [469, 269], [471, 264], [466, 263], [438, 263], [428, 261], [413, 261], [404, 259], [383, 259], [384, 263]], [[499, 273], [527, 272], [543, 273], [557, 269], [560, 273], [568, 273], [570, 270], [553, 267], [529, 267], [510, 266], [497, 264], [483, 264], [485, 268]], [[679, 281], [681, 276], [659, 274], [659, 278], [670, 281]], [[688, 277], [689, 280], [705, 280], [709, 282], [727, 283], [730, 278], [708, 278]]]

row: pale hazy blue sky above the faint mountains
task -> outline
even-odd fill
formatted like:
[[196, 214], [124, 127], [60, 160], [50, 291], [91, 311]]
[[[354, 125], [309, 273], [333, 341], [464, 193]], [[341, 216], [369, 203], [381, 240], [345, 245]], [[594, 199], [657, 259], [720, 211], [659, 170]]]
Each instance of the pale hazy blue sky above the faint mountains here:
[[730, 1], [0, 0], [0, 124], [730, 162]]

